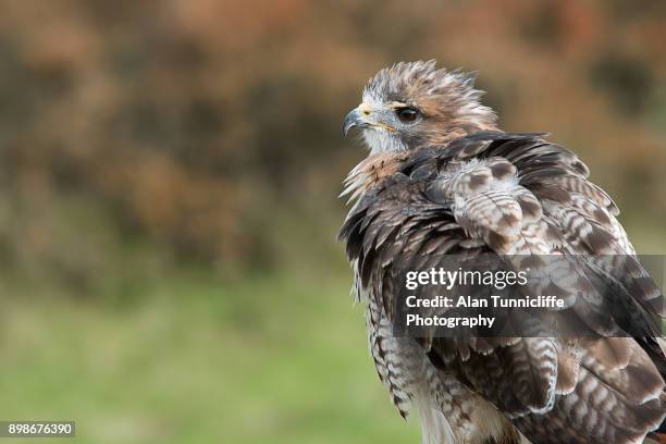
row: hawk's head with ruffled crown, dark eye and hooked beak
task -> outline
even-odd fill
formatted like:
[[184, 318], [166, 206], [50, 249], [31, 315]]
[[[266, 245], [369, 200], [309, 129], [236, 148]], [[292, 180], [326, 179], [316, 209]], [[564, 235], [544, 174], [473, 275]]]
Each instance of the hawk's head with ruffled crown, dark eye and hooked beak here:
[[362, 103], [345, 118], [345, 135], [362, 128], [371, 152], [407, 150], [481, 130], [496, 130], [495, 113], [479, 102], [474, 74], [437, 70], [435, 61], [400, 62], [368, 82]]

